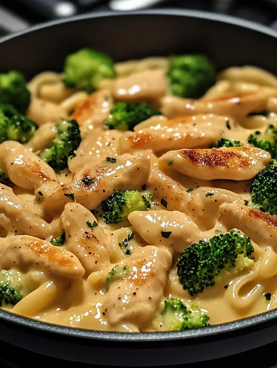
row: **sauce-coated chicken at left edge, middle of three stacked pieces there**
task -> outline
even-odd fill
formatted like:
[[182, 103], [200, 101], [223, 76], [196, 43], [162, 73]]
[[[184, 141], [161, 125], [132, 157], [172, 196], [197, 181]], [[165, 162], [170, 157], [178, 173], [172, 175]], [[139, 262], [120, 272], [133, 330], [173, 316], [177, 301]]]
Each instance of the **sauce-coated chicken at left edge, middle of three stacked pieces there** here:
[[0, 226], [6, 234], [28, 234], [38, 238], [57, 236], [58, 224], [47, 223], [33, 208], [32, 202], [18, 198], [5, 185], [0, 186]]

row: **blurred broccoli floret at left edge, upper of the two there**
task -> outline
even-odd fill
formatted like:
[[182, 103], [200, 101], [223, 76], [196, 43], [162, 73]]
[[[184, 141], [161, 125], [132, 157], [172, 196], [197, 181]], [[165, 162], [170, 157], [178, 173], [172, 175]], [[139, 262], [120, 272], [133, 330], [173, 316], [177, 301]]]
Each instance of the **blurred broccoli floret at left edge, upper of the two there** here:
[[30, 100], [31, 94], [23, 74], [16, 70], [0, 74], [0, 103], [11, 104], [20, 113], [25, 114]]

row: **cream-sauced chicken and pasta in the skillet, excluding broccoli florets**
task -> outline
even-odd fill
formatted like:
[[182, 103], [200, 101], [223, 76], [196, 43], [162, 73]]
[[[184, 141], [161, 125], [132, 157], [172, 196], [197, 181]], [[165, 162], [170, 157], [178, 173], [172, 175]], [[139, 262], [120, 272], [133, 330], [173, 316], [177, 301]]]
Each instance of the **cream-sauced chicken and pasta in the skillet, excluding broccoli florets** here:
[[[211, 324], [276, 308], [277, 220], [250, 194], [271, 156], [248, 137], [277, 127], [277, 78], [230, 67], [202, 97], [184, 98], [171, 93], [169, 66], [166, 57], [117, 63], [116, 77], [92, 93], [52, 71], [28, 83], [27, 116], [39, 128], [25, 145], [0, 145], [1, 170], [14, 184], [0, 184], [0, 270], [19, 280], [23, 295], [3, 309], [76, 328], [146, 332], [163, 330], [165, 298], [198, 305]], [[160, 113], [130, 130], [108, 129], [118, 102]], [[55, 139], [60, 118], [77, 120], [82, 142], [55, 172], [38, 152]], [[211, 148], [221, 138], [242, 144]], [[109, 223], [101, 204], [125, 190], [150, 198], [149, 208]], [[191, 296], [177, 276], [178, 256], [233, 228], [251, 238], [253, 265]]]

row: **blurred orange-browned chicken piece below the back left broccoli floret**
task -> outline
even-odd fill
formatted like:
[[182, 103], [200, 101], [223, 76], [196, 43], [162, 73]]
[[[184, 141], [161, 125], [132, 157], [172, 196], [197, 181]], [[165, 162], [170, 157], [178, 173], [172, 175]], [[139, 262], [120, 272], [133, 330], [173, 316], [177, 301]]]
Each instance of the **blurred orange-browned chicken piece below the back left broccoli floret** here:
[[87, 100], [77, 107], [70, 118], [77, 120], [81, 126], [89, 120], [96, 127], [103, 124], [109, 116], [112, 106], [111, 92], [103, 89], [102, 91], [93, 92]]

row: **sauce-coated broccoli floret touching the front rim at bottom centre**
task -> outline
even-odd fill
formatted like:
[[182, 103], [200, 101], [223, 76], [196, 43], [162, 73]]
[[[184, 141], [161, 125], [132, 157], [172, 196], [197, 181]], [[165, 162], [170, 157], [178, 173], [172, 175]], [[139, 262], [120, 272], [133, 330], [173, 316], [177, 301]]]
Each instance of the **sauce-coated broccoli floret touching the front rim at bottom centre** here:
[[209, 316], [199, 307], [192, 305], [188, 310], [179, 298], [164, 300], [164, 309], [161, 312], [162, 329], [166, 331], [182, 331], [209, 326]]

